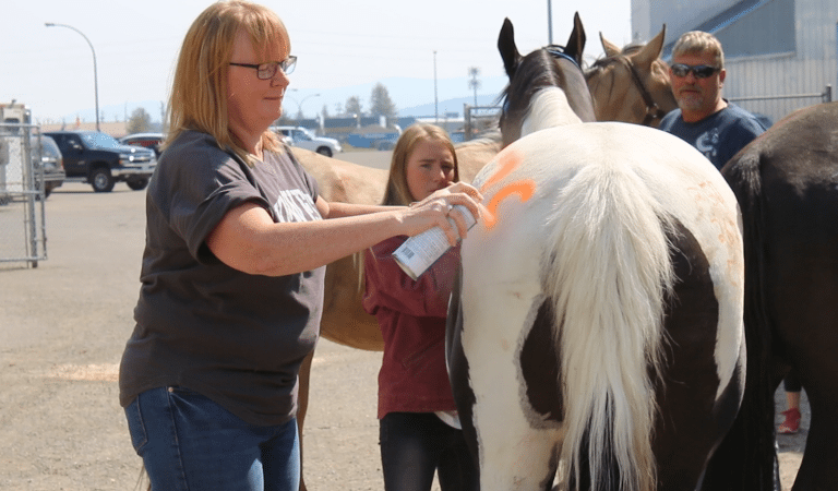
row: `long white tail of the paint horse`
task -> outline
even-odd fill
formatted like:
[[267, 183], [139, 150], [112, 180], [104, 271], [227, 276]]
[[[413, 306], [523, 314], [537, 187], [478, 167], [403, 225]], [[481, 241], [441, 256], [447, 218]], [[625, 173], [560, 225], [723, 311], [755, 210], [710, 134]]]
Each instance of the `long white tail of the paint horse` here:
[[543, 282], [561, 347], [559, 383], [570, 402], [560, 489], [589, 475], [595, 491], [650, 491], [663, 306], [674, 282], [671, 220], [619, 164], [579, 169], [556, 201]]

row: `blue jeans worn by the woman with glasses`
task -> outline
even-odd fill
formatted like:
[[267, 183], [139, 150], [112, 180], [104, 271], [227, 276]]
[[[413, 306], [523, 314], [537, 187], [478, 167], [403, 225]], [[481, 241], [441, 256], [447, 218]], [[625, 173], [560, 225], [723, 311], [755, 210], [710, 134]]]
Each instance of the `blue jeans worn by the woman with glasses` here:
[[152, 489], [297, 491], [297, 420], [249, 424], [201, 394], [159, 387], [125, 407], [128, 429]]

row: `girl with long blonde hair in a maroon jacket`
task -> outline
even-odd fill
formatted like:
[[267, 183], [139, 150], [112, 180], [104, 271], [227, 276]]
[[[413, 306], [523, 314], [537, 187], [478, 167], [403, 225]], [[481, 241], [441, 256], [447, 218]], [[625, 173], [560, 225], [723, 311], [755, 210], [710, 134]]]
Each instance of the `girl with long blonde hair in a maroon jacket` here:
[[[414, 124], [393, 151], [384, 204], [420, 202], [458, 180], [447, 133]], [[442, 491], [477, 490], [477, 466], [445, 368], [445, 320], [459, 247], [414, 280], [392, 255], [406, 239], [386, 239], [364, 253], [363, 307], [384, 338], [378, 415], [384, 489], [430, 491], [436, 472]]]

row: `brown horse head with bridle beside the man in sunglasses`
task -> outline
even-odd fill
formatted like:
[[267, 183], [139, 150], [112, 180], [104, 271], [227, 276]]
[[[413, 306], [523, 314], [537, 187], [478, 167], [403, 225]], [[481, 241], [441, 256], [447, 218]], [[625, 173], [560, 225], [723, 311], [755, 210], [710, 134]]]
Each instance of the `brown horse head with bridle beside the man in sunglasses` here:
[[600, 33], [604, 58], [585, 73], [598, 121], [660, 124], [678, 103], [669, 82], [669, 65], [660, 59], [667, 26], [646, 45], [620, 49]]

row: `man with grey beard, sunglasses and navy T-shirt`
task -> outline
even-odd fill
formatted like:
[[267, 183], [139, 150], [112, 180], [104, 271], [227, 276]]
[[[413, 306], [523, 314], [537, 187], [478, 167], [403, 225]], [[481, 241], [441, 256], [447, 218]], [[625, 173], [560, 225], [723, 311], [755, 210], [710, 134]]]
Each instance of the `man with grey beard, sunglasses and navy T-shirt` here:
[[659, 128], [696, 147], [717, 169], [765, 132], [754, 115], [721, 97], [725, 53], [714, 35], [683, 34], [672, 49], [669, 76], [679, 109]]

